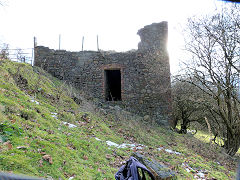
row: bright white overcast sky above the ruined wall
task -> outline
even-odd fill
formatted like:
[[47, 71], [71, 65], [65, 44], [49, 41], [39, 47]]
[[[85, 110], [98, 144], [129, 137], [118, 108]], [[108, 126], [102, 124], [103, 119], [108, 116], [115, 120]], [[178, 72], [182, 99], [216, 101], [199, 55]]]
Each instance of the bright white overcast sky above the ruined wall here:
[[178, 68], [182, 37], [179, 27], [188, 17], [214, 11], [217, 0], [0, 0], [0, 42], [10, 48], [32, 48], [37, 44], [58, 49], [137, 49], [138, 29], [153, 22], [169, 22], [168, 50], [171, 72]]

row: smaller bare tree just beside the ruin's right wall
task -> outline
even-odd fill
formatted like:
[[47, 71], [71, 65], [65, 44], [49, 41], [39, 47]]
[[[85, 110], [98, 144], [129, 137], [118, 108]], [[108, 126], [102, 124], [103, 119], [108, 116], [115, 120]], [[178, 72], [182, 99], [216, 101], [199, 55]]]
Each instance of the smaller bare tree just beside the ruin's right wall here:
[[[207, 97], [196, 86], [178, 78], [172, 83], [173, 116], [176, 124], [181, 123], [179, 133], [186, 134], [193, 123], [205, 125], [204, 118], [207, 116], [207, 111], [204, 104]], [[197, 130], [196, 127], [195, 129]]]

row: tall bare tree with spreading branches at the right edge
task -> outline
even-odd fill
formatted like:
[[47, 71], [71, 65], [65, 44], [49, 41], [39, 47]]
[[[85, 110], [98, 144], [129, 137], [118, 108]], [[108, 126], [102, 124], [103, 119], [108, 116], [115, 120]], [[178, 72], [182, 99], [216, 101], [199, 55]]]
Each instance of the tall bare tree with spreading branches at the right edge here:
[[214, 15], [188, 20], [185, 82], [213, 100], [208, 107], [216, 119], [226, 152], [233, 156], [240, 147], [240, 12], [226, 6]]

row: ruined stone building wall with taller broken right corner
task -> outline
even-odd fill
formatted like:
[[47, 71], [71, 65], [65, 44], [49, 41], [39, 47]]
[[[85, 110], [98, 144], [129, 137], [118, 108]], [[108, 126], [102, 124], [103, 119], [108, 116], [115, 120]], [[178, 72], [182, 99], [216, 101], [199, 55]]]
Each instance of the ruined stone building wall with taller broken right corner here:
[[138, 35], [138, 49], [120, 53], [36, 46], [34, 65], [103, 103], [117, 104], [167, 126], [172, 116], [168, 24], [153, 23]]

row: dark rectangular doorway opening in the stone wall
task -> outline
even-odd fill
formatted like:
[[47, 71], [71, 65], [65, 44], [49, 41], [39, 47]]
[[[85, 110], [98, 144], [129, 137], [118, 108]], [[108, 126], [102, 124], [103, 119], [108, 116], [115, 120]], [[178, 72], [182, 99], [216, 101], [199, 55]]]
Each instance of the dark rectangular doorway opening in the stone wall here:
[[105, 70], [105, 99], [106, 101], [121, 101], [121, 71]]

